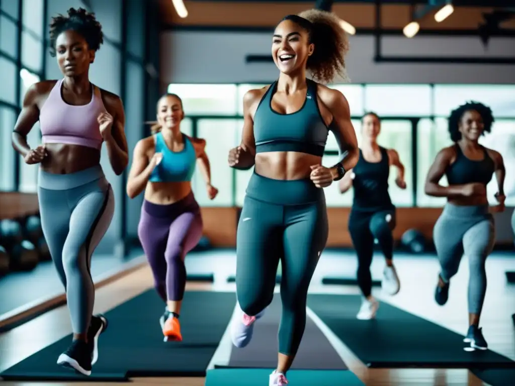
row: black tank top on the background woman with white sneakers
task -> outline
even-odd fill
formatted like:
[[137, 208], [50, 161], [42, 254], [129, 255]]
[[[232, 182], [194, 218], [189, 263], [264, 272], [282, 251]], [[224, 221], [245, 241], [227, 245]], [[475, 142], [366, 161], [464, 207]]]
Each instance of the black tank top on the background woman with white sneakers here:
[[381, 161], [367, 162], [359, 149], [359, 160], [352, 169], [354, 173], [352, 210], [376, 212], [394, 207], [388, 193], [388, 177], [390, 176], [388, 152], [381, 146], [379, 150], [381, 151]]

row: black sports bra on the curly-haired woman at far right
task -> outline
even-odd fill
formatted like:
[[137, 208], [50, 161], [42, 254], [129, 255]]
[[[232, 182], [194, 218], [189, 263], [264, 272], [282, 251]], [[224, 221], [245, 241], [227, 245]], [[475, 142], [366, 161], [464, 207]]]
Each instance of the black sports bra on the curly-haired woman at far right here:
[[483, 160], [474, 161], [467, 158], [458, 144], [455, 145], [456, 161], [445, 170], [445, 177], [449, 185], [464, 185], [480, 183], [487, 185], [495, 171], [495, 163], [482, 146], [485, 156]]

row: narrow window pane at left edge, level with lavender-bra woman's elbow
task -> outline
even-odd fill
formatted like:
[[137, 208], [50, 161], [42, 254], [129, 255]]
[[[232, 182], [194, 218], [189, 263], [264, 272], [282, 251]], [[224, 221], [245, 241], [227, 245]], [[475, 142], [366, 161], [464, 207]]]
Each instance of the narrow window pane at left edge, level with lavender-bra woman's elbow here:
[[14, 190], [14, 148], [11, 133], [16, 121], [14, 109], [0, 107], [0, 190]]

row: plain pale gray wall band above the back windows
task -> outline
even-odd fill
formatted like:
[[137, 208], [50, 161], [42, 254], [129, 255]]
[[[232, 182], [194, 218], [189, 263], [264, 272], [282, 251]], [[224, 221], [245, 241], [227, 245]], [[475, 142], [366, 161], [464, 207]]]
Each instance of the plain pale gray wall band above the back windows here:
[[[347, 58], [353, 83], [515, 83], [515, 65], [375, 63], [372, 36], [351, 37]], [[273, 63], [245, 62], [267, 55], [267, 32], [166, 31], [161, 35], [163, 83], [268, 82]], [[485, 51], [477, 37], [383, 37], [383, 56], [515, 57], [515, 39], [492, 38]]]

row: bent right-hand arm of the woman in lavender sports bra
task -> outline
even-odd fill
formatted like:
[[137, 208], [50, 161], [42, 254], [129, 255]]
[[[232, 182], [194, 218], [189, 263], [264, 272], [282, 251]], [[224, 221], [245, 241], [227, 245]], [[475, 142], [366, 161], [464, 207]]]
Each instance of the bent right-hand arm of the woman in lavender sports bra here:
[[119, 176], [129, 164], [124, 105], [117, 95], [103, 90], [102, 100], [107, 112], [98, 117], [100, 132], [106, 143], [111, 167], [116, 176]]

